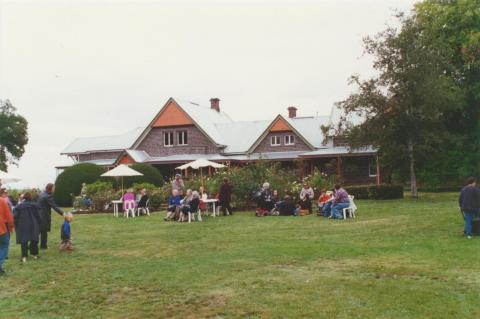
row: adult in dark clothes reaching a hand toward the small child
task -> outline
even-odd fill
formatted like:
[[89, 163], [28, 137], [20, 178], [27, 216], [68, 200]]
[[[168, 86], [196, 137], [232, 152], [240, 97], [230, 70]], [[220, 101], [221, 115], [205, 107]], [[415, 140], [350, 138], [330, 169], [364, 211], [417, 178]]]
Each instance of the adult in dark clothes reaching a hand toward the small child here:
[[55, 185], [48, 183], [45, 191], [38, 197], [38, 205], [40, 206], [40, 248], [47, 249], [48, 233], [52, 227], [52, 209], [60, 216], [63, 216], [63, 210], [53, 201], [53, 193], [55, 192]]

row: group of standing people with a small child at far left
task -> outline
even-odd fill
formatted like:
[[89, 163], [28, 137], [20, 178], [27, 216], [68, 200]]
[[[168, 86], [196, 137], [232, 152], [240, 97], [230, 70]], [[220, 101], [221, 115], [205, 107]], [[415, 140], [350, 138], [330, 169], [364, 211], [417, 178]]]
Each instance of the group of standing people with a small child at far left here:
[[64, 218], [60, 229], [60, 250], [71, 251], [70, 223], [73, 215], [65, 213], [53, 200], [55, 185], [49, 183], [40, 193], [36, 201], [32, 193], [20, 194], [18, 199], [12, 198], [8, 190], [0, 188], [0, 274], [4, 274], [3, 265], [8, 259], [11, 234], [15, 231], [16, 243], [20, 245], [21, 261], [27, 258], [38, 259], [40, 249], [48, 248], [48, 233], [52, 226], [52, 210]]

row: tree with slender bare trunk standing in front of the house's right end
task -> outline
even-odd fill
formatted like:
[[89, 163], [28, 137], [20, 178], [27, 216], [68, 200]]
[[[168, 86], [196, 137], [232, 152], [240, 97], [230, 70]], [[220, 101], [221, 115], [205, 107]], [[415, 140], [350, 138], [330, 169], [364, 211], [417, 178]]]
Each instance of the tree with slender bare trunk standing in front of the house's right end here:
[[[345, 115], [335, 129], [352, 148], [373, 145], [384, 163], [408, 170], [411, 194], [417, 197], [417, 165], [454, 138], [445, 130], [443, 118], [460, 108], [462, 90], [445, 74], [446, 57], [426, 43], [416, 17], [399, 14], [398, 18], [400, 29], [387, 28], [364, 40], [378, 76], [351, 77], [358, 92], [337, 103]], [[365, 121], [351, 126], [351, 113]]]

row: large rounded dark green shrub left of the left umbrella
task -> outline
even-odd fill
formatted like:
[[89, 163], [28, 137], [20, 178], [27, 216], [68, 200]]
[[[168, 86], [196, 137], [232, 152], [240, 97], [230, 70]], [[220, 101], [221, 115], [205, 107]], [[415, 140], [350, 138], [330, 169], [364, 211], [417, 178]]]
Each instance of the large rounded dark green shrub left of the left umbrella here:
[[82, 183], [93, 183], [103, 173], [105, 168], [91, 163], [80, 163], [65, 169], [55, 181], [55, 202], [60, 206], [71, 206], [73, 196], [80, 194]]

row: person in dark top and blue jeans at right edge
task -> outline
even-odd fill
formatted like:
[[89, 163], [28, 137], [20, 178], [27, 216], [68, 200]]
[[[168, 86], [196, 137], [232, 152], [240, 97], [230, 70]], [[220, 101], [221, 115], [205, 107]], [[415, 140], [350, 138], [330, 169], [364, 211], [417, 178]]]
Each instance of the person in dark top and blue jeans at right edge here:
[[480, 212], [480, 190], [477, 188], [475, 177], [467, 179], [467, 185], [462, 188], [458, 198], [458, 206], [463, 213], [463, 231], [468, 239], [472, 238], [473, 217]]

